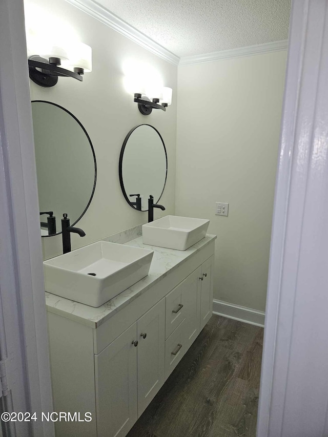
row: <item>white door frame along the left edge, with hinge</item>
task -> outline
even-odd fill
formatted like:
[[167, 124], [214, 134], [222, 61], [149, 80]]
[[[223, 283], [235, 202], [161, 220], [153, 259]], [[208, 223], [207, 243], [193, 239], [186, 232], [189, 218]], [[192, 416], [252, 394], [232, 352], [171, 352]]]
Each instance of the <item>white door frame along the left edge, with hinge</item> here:
[[53, 423], [40, 420], [53, 406], [23, 0], [0, 2], [0, 53], [0, 359], [12, 409], [38, 417], [3, 432], [48, 437]]

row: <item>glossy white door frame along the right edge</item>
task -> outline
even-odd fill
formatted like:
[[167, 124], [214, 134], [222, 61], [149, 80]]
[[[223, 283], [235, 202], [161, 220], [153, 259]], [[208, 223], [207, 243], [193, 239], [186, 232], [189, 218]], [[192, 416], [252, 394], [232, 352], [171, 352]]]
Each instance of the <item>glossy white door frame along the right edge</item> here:
[[328, 2], [293, 0], [258, 437], [328, 435]]

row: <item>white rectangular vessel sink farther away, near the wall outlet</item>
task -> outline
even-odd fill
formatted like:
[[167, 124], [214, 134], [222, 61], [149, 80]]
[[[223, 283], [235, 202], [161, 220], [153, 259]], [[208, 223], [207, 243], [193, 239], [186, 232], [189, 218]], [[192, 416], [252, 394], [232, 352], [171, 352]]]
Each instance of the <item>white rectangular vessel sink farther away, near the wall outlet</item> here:
[[142, 240], [151, 246], [186, 251], [206, 236], [210, 220], [166, 216], [142, 225]]

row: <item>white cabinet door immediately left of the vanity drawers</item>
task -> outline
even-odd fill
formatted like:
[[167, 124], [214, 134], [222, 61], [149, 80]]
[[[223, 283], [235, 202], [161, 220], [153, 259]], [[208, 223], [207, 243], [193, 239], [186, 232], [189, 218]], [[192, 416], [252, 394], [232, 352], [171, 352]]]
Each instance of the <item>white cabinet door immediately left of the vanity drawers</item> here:
[[165, 298], [137, 321], [138, 417], [165, 381]]

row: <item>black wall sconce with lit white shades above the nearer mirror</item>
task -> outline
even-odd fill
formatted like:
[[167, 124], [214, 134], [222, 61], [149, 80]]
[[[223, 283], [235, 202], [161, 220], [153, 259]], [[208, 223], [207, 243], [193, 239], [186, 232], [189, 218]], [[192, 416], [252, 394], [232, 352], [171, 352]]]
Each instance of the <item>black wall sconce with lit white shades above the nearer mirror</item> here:
[[[65, 67], [72, 70], [59, 67], [62, 61]], [[57, 84], [58, 77], [73, 77], [82, 81], [82, 75], [92, 70], [92, 50], [83, 43], [74, 45], [69, 51], [52, 46], [43, 56], [29, 56], [28, 64], [30, 78], [41, 87], [53, 87]]]

